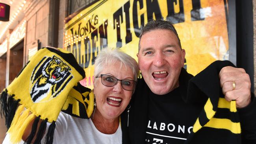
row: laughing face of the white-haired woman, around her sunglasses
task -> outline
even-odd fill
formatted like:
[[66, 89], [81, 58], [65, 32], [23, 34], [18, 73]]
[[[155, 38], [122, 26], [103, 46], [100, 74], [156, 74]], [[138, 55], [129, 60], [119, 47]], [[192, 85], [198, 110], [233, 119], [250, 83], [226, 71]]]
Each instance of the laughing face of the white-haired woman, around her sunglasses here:
[[[134, 80], [134, 74], [130, 68], [120, 67], [120, 62], [114, 65], [104, 66], [100, 74], [107, 74], [117, 79]], [[102, 84], [102, 78], [95, 78], [94, 94], [96, 98], [97, 110], [106, 119], [117, 118], [127, 107], [132, 97], [132, 91], [124, 90], [121, 81], [113, 87], [107, 87]]]

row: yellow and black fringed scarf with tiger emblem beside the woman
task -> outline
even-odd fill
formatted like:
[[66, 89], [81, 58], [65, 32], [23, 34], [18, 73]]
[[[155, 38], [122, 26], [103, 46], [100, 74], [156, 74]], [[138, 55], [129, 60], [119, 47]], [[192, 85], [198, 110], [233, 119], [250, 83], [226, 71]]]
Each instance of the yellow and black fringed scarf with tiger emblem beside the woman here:
[[6, 117], [7, 133], [13, 143], [21, 140], [28, 124], [33, 122], [31, 143], [39, 119], [36, 140], [40, 143], [46, 133], [46, 143], [52, 143], [55, 122], [60, 111], [80, 118], [89, 118], [93, 112], [94, 95], [78, 83], [85, 78], [84, 70], [74, 56], [63, 49], [43, 48], [24, 66], [14, 81], [1, 93], [1, 116]]

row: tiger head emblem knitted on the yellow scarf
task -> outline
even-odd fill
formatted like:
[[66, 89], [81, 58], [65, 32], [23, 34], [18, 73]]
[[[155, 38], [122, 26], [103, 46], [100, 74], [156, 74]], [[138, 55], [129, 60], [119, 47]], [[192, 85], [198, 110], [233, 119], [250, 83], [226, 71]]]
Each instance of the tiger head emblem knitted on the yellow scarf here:
[[55, 98], [73, 78], [71, 68], [56, 56], [44, 57], [35, 66], [30, 83], [30, 96], [34, 103]]

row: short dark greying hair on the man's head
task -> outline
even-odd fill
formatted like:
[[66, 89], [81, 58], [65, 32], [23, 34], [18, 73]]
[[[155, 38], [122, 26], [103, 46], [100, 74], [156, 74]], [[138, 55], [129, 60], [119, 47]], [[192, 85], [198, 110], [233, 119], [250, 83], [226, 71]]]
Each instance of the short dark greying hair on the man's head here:
[[[158, 19], [158, 20], [150, 19], [150, 20], [148, 20], [148, 23], [144, 26], [144, 28], [141, 30], [141, 33], [139, 34], [139, 44], [141, 42], [142, 35], [144, 35], [148, 31], [157, 30], [157, 29], [172, 31], [176, 35], [176, 37], [178, 39], [178, 42], [179, 42], [179, 45], [180, 45], [180, 48], [181, 48], [180, 38], [179, 38], [178, 33], [177, 33], [176, 29], [174, 28], [173, 24], [169, 21], [161, 20], [161, 19]], [[139, 49], [140, 49], [140, 46], [139, 46]]]

